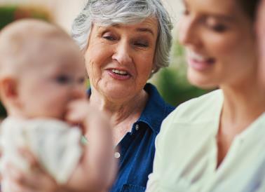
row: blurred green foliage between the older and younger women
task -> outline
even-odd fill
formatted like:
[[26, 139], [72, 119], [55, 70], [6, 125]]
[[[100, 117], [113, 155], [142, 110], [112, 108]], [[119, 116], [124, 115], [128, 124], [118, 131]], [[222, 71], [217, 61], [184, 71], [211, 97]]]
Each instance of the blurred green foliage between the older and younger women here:
[[161, 69], [151, 79], [165, 101], [173, 106], [208, 92], [189, 83], [186, 78], [186, 66], [184, 48], [175, 43], [172, 47], [170, 67]]

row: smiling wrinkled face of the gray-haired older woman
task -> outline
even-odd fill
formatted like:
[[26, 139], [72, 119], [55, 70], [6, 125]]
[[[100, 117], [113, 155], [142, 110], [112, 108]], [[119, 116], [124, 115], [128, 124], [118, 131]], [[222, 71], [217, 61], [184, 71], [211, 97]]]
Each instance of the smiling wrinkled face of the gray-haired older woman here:
[[151, 74], [158, 23], [147, 18], [135, 25], [93, 25], [85, 53], [90, 83], [110, 100], [135, 97]]

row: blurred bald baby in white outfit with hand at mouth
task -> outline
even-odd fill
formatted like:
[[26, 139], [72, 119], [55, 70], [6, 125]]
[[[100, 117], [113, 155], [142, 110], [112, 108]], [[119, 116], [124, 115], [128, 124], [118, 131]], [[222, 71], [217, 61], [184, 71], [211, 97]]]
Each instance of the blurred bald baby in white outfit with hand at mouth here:
[[[74, 41], [46, 22], [20, 20], [0, 32], [0, 58], [0, 97], [8, 112], [0, 130], [1, 190], [11, 191], [6, 163], [34, 171], [20, 148], [72, 191], [106, 189], [116, 165], [111, 129], [86, 101], [86, 69]], [[81, 144], [82, 133], [89, 144]]]

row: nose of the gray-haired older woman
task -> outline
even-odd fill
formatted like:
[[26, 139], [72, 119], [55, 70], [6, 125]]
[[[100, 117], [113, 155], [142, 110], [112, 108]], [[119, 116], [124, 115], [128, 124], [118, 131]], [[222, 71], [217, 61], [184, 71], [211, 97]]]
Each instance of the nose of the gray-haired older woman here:
[[119, 41], [112, 55], [112, 59], [120, 64], [130, 64], [132, 57], [130, 55], [130, 43], [127, 41]]

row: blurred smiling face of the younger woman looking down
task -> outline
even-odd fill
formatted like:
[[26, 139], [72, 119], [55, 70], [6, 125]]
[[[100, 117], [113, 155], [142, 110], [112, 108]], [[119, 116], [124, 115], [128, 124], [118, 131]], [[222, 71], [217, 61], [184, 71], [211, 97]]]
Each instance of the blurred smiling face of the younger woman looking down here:
[[193, 85], [238, 85], [256, 76], [253, 23], [238, 2], [184, 0], [179, 41], [186, 47]]

